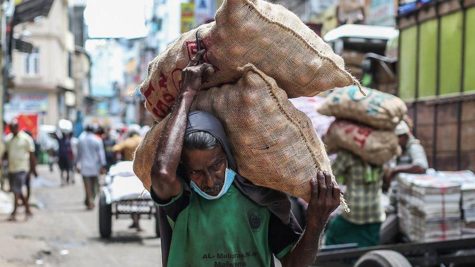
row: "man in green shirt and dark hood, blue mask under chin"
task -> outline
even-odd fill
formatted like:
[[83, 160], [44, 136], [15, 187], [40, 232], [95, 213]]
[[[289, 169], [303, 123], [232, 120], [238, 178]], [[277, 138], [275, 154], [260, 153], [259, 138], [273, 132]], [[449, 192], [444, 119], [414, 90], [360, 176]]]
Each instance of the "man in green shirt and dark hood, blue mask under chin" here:
[[340, 188], [330, 173], [310, 179], [302, 234], [285, 194], [241, 177], [219, 120], [190, 111], [209, 78], [203, 73], [211, 65], [198, 64], [203, 54], [182, 72], [150, 170], [164, 266], [273, 266], [272, 254], [283, 266], [309, 266], [328, 216], [340, 204]]

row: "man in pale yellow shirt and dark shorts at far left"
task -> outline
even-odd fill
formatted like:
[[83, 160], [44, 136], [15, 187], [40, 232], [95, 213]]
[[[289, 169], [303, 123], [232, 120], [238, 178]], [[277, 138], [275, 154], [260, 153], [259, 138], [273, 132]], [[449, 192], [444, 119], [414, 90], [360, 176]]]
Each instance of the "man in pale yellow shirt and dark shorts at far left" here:
[[8, 160], [8, 179], [10, 190], [15, 195], [14, 209], [9, 220], [16, 220], [18, 200], [21, 199], [25, 205], [26, 216], [32, 215], [28, 199], [21, 191], [25, 184], [28, 174], [31, 172], [34, 176], [36, 171], [35, 142], [25, 132], [18, 131], [18, 121], [13, 121], [10, 125], [9, 133], [5, 139], [5, 154], [3, 160]]

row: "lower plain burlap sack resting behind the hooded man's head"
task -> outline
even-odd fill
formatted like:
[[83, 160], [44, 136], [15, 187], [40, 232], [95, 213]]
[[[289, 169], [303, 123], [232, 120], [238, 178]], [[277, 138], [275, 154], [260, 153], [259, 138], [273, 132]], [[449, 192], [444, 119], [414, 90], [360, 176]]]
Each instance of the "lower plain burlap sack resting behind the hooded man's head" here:
[[[331, 173], [311, 120], [292, 106], [274, 79], [251, 64], [238, 71], [242, 77], [236, 83], [200, 91], [191, 109], [209, 112], [223, 124], [239, 174], [309, 201], [310, 179], [318, 170]], [[134, 172], [147, 189], [163, 126], [154, 125], [135, 154]]]

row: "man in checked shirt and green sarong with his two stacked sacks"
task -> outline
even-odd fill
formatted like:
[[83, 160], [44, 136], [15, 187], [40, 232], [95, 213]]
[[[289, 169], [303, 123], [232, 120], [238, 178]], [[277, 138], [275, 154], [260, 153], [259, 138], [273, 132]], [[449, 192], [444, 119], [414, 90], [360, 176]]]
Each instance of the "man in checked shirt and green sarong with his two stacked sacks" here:
[[407, 110], [405, 104], [377, 90], [365, 89], [366, 97], [360, 97], [358, 91], [355, 87], [336, 89], [318, 110], [337, 118], [323, 140], [329, 150], [337, 152], [333, 174], [347, 186], [351, 207], [350, 213], [337, 215], [329, 223], [327, 245], [379, 244], [386, 218], [381, 205], [383, 165], [401, 150], [394, 127]]

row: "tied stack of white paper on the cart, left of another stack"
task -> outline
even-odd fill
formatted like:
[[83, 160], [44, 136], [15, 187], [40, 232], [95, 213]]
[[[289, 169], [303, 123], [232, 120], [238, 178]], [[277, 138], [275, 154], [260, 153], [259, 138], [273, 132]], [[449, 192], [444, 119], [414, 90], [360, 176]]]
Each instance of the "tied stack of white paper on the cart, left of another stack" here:
[[436, 172], [399, 176], [401, 230], [413, 241], [461, 235], [460, 182]]

